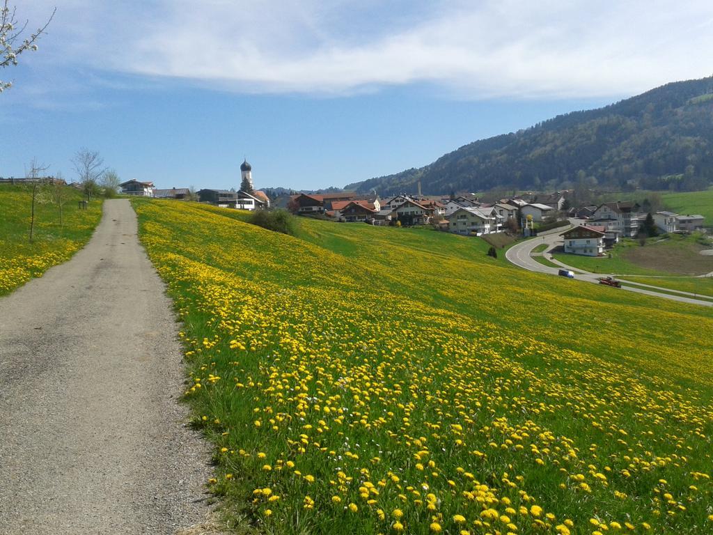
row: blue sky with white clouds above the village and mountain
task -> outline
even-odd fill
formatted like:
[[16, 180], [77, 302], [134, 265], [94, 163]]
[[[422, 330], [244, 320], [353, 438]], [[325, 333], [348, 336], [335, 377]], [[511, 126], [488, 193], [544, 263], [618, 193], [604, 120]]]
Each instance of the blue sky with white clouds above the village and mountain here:
[[159, 188], [237, 188], [243, 156], [258, 188], [341, 186], [713, 73], [710, 2], [534, 4], [66, 0], [0, 71], [0, 175], [72, 180], [87, 147]]

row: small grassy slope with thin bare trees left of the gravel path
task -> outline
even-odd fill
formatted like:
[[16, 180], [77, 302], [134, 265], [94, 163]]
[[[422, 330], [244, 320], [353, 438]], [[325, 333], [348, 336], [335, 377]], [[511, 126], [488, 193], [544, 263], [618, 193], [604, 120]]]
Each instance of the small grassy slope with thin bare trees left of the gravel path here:
[[55, 195], [49, 186], [39, 190], [30, 242], [31, 186], [0, 184], [0, 295], [65, 262], [91, 238], [101, 219], [101, 199], [93, 200], [88, 210], [78, 210], [81, 192], [63, 186], [60, 224]]

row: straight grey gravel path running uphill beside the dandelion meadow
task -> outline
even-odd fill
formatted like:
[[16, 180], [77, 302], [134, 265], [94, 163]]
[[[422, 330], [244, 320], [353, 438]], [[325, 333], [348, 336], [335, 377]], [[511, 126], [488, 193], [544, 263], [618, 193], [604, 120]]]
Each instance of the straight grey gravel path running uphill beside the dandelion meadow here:
[[0, 534], [173, 534], [205, 518], [170, 301], [128, 200], [0, 299]]

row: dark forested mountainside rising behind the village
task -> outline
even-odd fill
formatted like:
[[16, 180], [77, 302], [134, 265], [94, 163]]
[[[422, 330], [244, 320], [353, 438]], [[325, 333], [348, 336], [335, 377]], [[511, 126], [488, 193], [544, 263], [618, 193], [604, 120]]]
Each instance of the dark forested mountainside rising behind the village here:
[[380, 195], [493, 188], [692, 191], [713, 181], [713, 77], [668, 83], [590, 111], [483, 139], [425, 167], [347, 190]]

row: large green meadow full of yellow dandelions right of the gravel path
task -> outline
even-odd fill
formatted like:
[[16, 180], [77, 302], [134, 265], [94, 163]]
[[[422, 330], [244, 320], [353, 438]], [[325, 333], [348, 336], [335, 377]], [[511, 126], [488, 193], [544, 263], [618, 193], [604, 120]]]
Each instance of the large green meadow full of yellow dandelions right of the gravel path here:
[[240, 529], [713, 527], [709, 310], [523, 272], [478, 239], [133, 203]]

